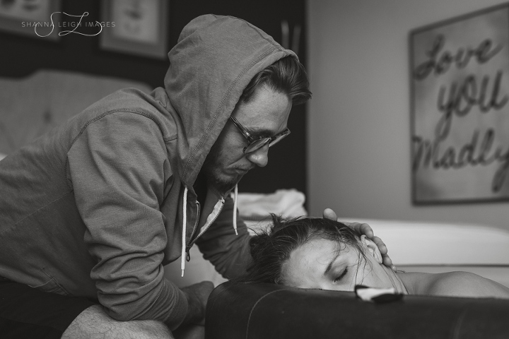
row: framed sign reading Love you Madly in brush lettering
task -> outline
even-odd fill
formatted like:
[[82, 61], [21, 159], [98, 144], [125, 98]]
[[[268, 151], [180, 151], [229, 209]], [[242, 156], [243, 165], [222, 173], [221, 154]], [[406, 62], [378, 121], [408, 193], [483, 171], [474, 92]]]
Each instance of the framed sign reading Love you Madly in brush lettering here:
[[509, 199], [509, 4], [410, 32], [414, 204]]

